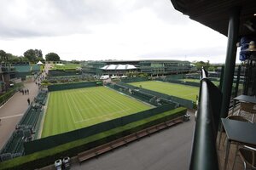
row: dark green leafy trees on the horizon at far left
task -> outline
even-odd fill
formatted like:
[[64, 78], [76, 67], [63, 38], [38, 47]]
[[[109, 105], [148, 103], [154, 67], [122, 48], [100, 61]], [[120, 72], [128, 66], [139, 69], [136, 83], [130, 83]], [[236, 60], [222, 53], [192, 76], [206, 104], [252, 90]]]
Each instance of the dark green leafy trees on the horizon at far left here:
[[49, 53], [43, 58], [41, 49], [28, 49], [23, 55], [17, 56], [14, 54], [6, 53], [2, 49], [0, 50], [0, 62], [32, 62], [38, 61], [59, 61], [61, 58], [58, 54]]

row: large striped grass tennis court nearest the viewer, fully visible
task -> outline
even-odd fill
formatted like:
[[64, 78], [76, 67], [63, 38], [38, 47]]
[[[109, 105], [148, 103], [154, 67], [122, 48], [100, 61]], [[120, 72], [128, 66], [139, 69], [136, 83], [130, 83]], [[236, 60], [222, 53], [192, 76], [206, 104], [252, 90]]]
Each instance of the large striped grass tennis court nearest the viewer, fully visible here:
[[65, 133], [150, 108], [105, 87], [51, 92], [41, 136]]

